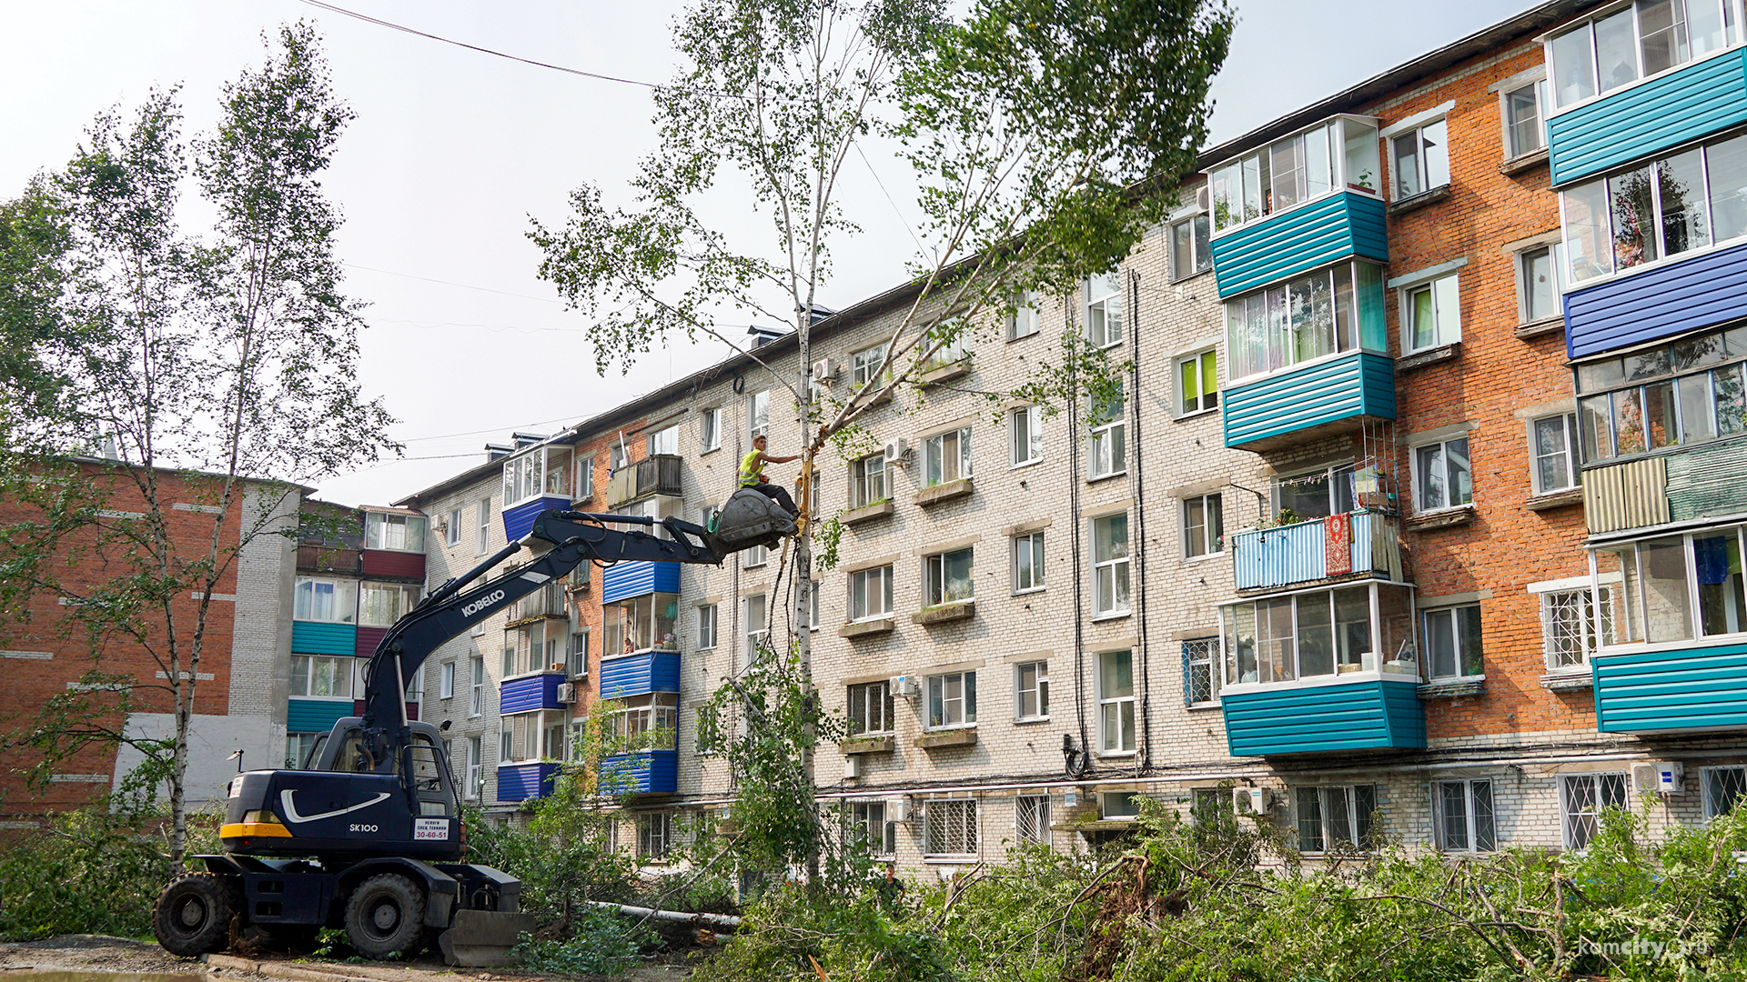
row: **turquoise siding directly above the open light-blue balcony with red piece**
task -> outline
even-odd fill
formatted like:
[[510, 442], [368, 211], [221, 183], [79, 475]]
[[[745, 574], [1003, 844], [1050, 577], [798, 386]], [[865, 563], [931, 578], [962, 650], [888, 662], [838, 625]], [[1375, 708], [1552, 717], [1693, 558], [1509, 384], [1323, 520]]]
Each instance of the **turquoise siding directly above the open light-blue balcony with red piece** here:
[[1226, 390], [1225, 446], [1272, 449], [1356, 430], [1359, 416], [1396, 418], [1396, 363], [1370, 351], [1286, 369]]

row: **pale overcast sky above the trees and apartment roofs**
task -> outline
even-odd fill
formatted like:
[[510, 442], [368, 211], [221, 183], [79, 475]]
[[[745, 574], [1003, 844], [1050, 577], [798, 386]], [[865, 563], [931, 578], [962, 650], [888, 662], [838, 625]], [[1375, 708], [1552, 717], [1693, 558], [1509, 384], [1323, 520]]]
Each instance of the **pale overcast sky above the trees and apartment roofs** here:
[[[678, 0], [341, 0], [428, 33], [587, 72], [666, 80]], [[1239, 0], [1214, 84], [1219, 142], [1532, 5], [1529, 0], [1377, 3]], [[346, 215], [348, 288], [369, 301], [362, 381], [400, 419], [407, 460], [323, 482], [320, 496], [386, 503], [482, 460], [510, 430], [556, 432], [701, 369], [720, 342], [652, 353], [601, 379], [578, 315], [535, 276], [528, 217], [557, 224], [578, 182], [629, 203], [653, 147], [648, 91], [412, 37], [300, 0], [0, 0], [0, 197], [65, 164], [91, 117], [182, 86], [189, 129], [217, 117], [220, 86], [264, 49], [260, 33], [306, 17], [356, 112], [325, 187]], [[915, 253], [905, 169], [853, 159], [846, 203], [865, 232], [835, 246], [823, 302], [847, 306], [903, 280]], [[711, 213], [742, 248], [774, 241], [737, 201]], [[190, 224], [197, 215], [190, 215]], [[318, 423], [318, 421], [313, 421]]]

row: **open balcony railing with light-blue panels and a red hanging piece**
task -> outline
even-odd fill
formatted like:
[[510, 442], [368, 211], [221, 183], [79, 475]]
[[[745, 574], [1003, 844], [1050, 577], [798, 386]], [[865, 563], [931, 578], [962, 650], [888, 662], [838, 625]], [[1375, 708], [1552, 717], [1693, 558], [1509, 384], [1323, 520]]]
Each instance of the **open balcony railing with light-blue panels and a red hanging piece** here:
[[1314, 519], [1233, 535], [1237, 589], [1364, 577], [1399, 580], [1401, 536], [1396, 521], [1377, 512], [1352, 512], [1345, 519]]

